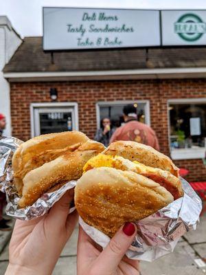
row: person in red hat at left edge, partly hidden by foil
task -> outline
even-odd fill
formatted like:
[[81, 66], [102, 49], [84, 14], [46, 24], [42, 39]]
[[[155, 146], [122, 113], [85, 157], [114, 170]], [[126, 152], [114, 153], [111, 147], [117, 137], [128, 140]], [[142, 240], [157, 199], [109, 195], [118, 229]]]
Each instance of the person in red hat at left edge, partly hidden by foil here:
[[[0, 137], [3, 134], [3, 130], [5, 129], [6, 121], [5, 121], [5, 115], [3, 113], [0, 113]], [[3, 219], [3, 207], [6, 204], [5, 194], [0, 191], [0, 230], [11, 230], [10, 226], [7, 224], [9, 219]]]

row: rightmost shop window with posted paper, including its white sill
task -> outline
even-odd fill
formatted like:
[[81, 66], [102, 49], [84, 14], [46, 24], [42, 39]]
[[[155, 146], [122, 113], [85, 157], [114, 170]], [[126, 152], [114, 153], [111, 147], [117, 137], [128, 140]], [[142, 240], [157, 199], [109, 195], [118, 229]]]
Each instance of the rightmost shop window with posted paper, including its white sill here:
[[172, 158], [190, 159], [204, 157], [206, 100], [190, 99], [174, 100], [174, 102], [171, 100], [168, 104], [168, 111]]

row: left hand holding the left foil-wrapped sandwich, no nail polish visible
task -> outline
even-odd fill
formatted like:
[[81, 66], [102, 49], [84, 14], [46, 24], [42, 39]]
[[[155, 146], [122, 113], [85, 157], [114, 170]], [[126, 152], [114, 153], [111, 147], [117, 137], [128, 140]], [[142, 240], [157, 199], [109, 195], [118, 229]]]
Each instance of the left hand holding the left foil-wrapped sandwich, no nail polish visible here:
[[69, 190], [43, 217], [16, 220], [6, 275], [52, 274], [78, 219], [76, 211], [69, 214], [72, 199]]

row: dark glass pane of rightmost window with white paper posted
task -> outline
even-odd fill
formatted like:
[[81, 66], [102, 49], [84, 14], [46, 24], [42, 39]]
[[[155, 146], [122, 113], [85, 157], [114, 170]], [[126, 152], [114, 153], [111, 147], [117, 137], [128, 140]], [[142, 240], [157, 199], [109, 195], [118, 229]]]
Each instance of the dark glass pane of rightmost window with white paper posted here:
[[204, 147], [206, 104], [170, 104], [170, 145], [173, 148]]

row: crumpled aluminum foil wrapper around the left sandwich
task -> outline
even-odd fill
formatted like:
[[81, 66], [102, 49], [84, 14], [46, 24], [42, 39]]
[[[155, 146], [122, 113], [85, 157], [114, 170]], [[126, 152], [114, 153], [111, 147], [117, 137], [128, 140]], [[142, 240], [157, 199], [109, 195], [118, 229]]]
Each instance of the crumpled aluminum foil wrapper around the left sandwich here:
[[[12, 155], [22, 143], [15, 137], [2, 137], [0, 140], [0, 191], [5, 192], [8, 204], [6, 214], [16, 219], [30, 220], [43, 216], [65, 192], [76, 186], [76, 181], [69, 181], [60, 189], [45, 193], [32, 206], [18, 208], [19, 195], [13, 182]], [[75, 207], [70, 208], [72, 212]]]

